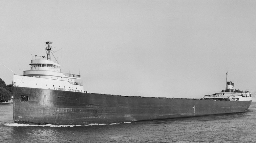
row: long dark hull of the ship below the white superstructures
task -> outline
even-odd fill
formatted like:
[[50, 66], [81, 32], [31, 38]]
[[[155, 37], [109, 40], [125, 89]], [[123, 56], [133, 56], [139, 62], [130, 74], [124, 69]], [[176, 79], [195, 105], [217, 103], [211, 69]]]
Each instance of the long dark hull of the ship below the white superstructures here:
[[[28, 101], [21, 96], [28, 96]], [[251, 101], [127, 97], [14, 87], [13, 119], [32, 124], [100, 124], [238, 113], [250, 104]]]

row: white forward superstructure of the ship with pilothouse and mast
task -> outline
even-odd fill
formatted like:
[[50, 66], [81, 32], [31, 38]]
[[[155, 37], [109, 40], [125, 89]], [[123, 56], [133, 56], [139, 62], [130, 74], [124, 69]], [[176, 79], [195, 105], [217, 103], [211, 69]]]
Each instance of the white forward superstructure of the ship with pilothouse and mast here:
[[51, 61], [50, 44], [52, 42], [46, 42], [46, 59], [44, 56], [43, 59], [32, 59], [29, 71], [24, 71], [23, 76], [13, 75], [14, 86], [87, 93], [80, 82], [80, 75], [62, 73], [61, 66]]

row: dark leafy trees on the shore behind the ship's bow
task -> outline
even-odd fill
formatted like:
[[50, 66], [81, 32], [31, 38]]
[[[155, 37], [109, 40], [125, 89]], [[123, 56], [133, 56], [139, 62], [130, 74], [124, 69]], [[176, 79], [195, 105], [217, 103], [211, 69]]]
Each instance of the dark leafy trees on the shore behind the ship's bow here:
[[0, 78], [0, 103], [8, 102], [9, 100], [11, 100], [12, 93], [13, 93], [12, 85], [6, 86], [5, 81], [3, 81]]

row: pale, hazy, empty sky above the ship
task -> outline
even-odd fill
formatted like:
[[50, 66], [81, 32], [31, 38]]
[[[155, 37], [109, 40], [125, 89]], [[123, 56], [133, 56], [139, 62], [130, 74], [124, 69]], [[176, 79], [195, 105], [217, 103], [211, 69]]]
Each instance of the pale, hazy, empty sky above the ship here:
[[202, 98], [226, 72], [256, 93], [254, 0], [0, 0], [0, 17], [6, 84], [52, 41], [62, 72], [92, 93]]

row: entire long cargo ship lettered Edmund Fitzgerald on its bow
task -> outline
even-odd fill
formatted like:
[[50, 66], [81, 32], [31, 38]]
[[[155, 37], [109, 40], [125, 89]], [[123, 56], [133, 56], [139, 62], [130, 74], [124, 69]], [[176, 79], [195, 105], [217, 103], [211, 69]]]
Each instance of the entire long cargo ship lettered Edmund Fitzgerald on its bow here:
[[[23, 124], [85, 125], [172, 119], [244, 112], [251, 104], [248, 91], [225, 90], [201, 99], [121, 96], [84, 90], [80, 75], [61, 72], [47, 57], [32, 59], [30, 70], [13, 75], [13, 120]], [[168, 95], [171, 96], [171, 95]]]

